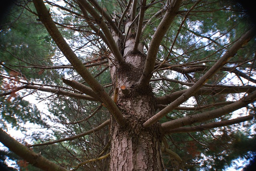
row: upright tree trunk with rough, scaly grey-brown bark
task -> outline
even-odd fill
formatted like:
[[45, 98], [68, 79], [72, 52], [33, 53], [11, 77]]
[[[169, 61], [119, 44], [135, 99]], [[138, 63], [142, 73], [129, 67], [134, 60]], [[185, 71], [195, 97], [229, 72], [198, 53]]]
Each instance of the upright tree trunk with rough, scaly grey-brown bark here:
[[[142, 127], [142, 123], [156, 113], [156, 104], [152, 88], [137, 84], [146, 55], [142, 45], [137, 52], [132, 52], [134, 41], [132, 35], [126, 40], [123, 53], [126, 64], [119, 65], [114, 59], [109, 62], [114, 89], [119, 90], [116, 103], [127, 119], [124, 127], [118, 125], [114, 118], [110, 121], [110, 170], [163, 170], [159, 124], [147, 129]], [[120, 91], [121, 86], [128, 91]]]

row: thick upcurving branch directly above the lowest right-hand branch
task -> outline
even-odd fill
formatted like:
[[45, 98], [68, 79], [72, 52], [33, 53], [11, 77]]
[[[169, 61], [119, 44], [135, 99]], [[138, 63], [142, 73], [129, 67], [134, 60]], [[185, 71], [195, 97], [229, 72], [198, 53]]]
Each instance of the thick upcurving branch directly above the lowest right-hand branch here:
[[167, 129], [174, 129], [174, 128], [186, 126], [186, 125], [191, 125], [193, 123], [198, 123], [202, 121], [208, 121], [210, 119], [221, 117], [223, 115], [236, 111], [237, 109], [245, 107], [246, 105], [254, 102], [255, 100], [256, 100], [256, 90], [230, 105], [226, 105], [224, 107], [220, 107], [212, 111], [206, 111], [206, 112], [178, 118], [173, 121], [168, 121], [168, 122], [162, 123], [161, 126], [163, 130], [167, 130]]

